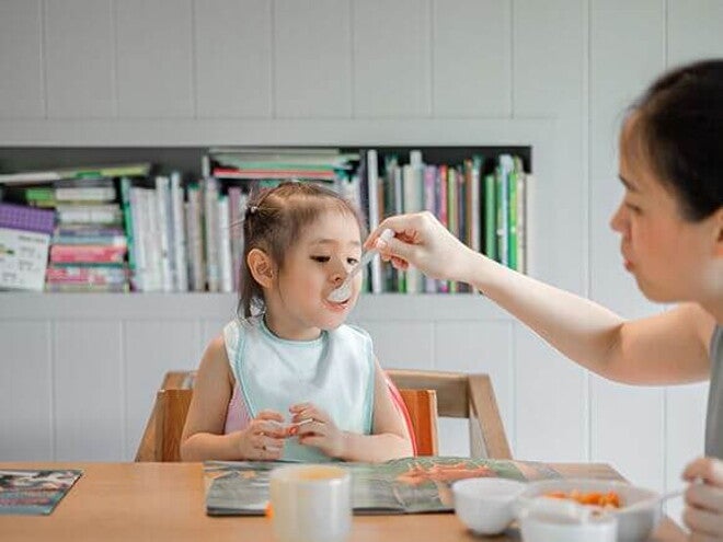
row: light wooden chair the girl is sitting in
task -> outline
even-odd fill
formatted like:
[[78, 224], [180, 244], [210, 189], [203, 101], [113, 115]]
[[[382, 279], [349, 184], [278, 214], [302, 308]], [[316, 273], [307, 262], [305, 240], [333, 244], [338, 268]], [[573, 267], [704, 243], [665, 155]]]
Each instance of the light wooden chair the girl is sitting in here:
[[[512, 459], [492, 382], [486, 374], [390, 369], [416, 440], [416, 455], [438, 453], [437, 417], [469, 419], [473, 458]], [[165, 373], [146, 425], [136, 461], [180, 461], [180, 443], [191, 397], [193, 371]], [[394, 392], [392, 391], [392, 394]]]

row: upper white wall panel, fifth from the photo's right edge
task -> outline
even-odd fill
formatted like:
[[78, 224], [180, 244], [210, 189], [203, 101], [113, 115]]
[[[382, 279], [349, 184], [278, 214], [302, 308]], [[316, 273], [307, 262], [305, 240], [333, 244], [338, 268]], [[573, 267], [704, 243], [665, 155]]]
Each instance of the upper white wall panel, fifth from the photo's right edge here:
[[431, 0], [353, 0], [354, 116], [432, 115]]

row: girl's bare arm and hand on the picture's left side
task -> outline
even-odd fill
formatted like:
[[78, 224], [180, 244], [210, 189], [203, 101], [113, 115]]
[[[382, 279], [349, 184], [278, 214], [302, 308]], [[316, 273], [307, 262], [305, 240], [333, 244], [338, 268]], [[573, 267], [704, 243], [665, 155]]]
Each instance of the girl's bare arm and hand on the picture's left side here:
[[248, 428], [223, 435], [233, 385], [223, 337], [218, 336], [206, 348], [194, 383], [181, 437], [183, 461], [280, 458], [285, 433], [277, 425], [277, 422], [284, 422], [279, 413], [264, 411]]

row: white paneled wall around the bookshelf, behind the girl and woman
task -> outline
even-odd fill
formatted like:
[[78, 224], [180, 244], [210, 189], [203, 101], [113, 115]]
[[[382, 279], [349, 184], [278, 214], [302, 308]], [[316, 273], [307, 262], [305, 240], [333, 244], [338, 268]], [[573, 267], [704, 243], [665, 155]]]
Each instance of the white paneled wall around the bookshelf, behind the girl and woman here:
[[[723, 56], [719, 0], [3, 0], [0, 146], [533, 143], [531, 273], [650, 314], [608, 227], [617, 131], [655, 74]], [[130, 460], [162, 372], [232, 311], [0, 297], [0, 460]], [[354, 319], [387, 366], [492, 373], [518, 458], [663, 491], [702, 451], [705, 384], [602, 381], [483, 297], [368, 297]]]

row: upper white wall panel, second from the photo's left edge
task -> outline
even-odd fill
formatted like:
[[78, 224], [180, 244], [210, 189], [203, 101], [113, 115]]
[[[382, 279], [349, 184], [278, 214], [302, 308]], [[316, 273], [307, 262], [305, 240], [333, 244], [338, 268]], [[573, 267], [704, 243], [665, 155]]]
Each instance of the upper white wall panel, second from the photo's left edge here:
[[48, 117], [115, 116], [111, 0], [46, 0]]

